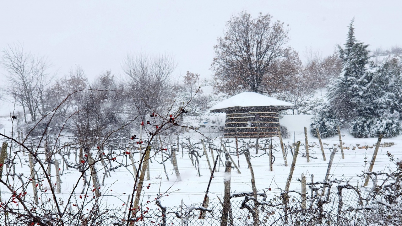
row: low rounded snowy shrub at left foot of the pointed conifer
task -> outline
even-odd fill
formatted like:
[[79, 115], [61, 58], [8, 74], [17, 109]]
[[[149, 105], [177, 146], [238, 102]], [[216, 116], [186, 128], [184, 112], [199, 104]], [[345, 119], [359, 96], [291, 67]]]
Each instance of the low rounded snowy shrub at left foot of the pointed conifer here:
[[340, 125], [340, 121], [336, 119], [334, 113], [328, 109], [322, 109], [312, 118], [312, 122], [310, 124], [310, 133], [314, 137], [317, 137], [316, 129], [318, 128], [321, 138], [330, 138], [337, 134], [338, 125]]

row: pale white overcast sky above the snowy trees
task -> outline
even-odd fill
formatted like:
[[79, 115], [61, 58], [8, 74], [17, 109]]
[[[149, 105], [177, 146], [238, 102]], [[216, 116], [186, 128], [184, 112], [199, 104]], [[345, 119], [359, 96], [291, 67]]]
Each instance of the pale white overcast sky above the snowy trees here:
[[[152, 3], [151, 3], [152, 2]], [[65, 75], [76, 64], [94, 78], [121, 73], [127, 53], [166, 53], [187, 70], [210, 77], [213, 45], [232, 14], [270, 13], [289, 24], [290, 45], [329, 55], [345, 41], [355, 17], [356, 36], [371, 48], [402, 46], [400, 1], [2, 1], [0, 48], [20, 42], [46, 56]]]

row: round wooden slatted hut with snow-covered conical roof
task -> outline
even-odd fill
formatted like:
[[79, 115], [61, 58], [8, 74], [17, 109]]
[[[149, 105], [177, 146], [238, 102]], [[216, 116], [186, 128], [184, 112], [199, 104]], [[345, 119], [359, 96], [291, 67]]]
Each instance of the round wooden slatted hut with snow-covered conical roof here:
[[225, 138], [268, 138], [278, 136], [279, 111], [293, 107], [256, 92], [242, 92], [209, 110], [226, 113]]

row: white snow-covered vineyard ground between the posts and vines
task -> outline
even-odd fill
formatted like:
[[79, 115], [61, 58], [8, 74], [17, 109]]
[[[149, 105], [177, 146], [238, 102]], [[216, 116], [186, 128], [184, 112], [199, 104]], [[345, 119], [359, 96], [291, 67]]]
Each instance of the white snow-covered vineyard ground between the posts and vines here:
[[[284, 139], [284, 143], [286, 146], [289, 146], [293, 143], [293, 139], [295, 141], [301, 141], [302, 146], [300, 146], [300, 152], [297, 157], [295, 171], [293, 173], [293, 178], [290, 185], [290, 190], [300, 191], [301, 185], [300, 182], [296, 179], [301, 178], [301, 174], [306, 175], [307, 182], [310, 182], [310, 175], [314, 175], [314, 181], [323, 181], [326, 170], [328, 168], [328, 161], [330, 156], [330, 150], [328, 148], [337, 146], [339, 144], [339, 140], [337, 137], [330, 138], [330, 139], [323, 139], [322, 142], [324, 143], [324, 150], [326, 154], [326, 161], [322, 159], [322, 154], [320, 151], [320, 147], [318, 145], [318, 139], [312, 137], [310, 134], [308, 135], [308, 142], [310, 145], [310, 156], [314, 157], [310, 159], [310, 162], [306, 161], [306, 158], [303, 157], [303, 153], [305, 153], [305, 146], [304, 146], [304, 133], [303, 129], [304, 126], [308, 125], [308, 121], [310, 120], [310, 116], [306, 115], [289, 115], [284, 116], [281, 119], [281, 124], [286, 125], [288, 127], [288, 131], [290, 136]], [[0, 123], [4, 125], [2, 128], [2, 132], [5, 131], [6, 134], [10, 134], [11, 131], [11, 123], [8, 117], [1, 117]], [[294, 133], [293, 133], [294, 132]], [[208, 130], [205, 129], [205, 134], [209, 135]], [[295, 138], [293, 138], [293, 134]], [[363, 171], [367, 171], [368, 164], [372, 158], [374, 144], [377, 142], [377, 138], [367, 138], [367, 139], [356, 139], [351, 137], [347, 132], [342, 132], [344, 135], [342, 137], [342, 141], [345, 143], [343, 147], [347, 147], [349, 149], [345, 149], [345, 159], [341, 158], [341, 154], [338, 151], [335, 155], [333, 166], [331, 168], [331, 178], [332, 179], [343, 179], [343, 178], [352, 178], [351, 184], [355, 183], [356, 185], [362, 184], [362, 181], [357, 181], [356, 175], [361, 174]], [[208, 140], [203, 138], [200, 134], [197, 133], [184, 133], [183, 136], [180, 136], [180, 143], [187, 142], [185, 138], [191, 137], [191, 142], [200, 142], [201, 139]], [[215, 133], [212, 133], [211, 136], [215, 136]], [[182, 138], [183, 137], [183, 138]], [[177, 140], [176, 137], [172, 137], [172, 143], [176, 144]], [[392, 142], [394, 143], [391, 147], [380, 147], [379, 152], [377, 155], [377, 159], [375, 160], [375, 165], [373, 171], [388, 171], [388, 166], [394, 167], [390, 162], [388, 156], [386, 155], [387, 152], [390, 152], [395, 156], [395, 158], [402, 159], [402, 137], [398, 136], [392, 139], [383, 139], [381, 143], [384, 142]], [[5, 141], [2, 139], [2, 141]], [[129, 144], [129, 139], [127, 144]], [[221, 140], [219, 138], [213, 140], [213, 144], [215, 146], [219, 146]], [[225, 142], [225, 140], [224, 140]], [[230, 152], [236, 153], [234, 139], [230, 140], [230, 144], [227, 145], [227, 148]], [[255, 142], [255, 140], [254, 140]], [[264, 143], [264, 140], [259, 141], [260, 144]], [[264, 154], [263, 156], [252, 158], [252, 167], [254, 169], [255, 179], [256, 179], [256, 188], [260, 191], [266, 191], [268, 196], [273, 197], [274, 195], [279, 195], [281, 193], [281, 189], [285, 188], [286, 179], [289, 175], [290, 164], [292, 161], [292, 155], [290, 152], [287, 152], [287, 163], [288, 166], [284, 166], [284, 161], [281, 153], [281, 149], [278, 146], [279, 139], [273, 138], [273, 145], [274, 145], [274, 152], [273, 155], [275, 156], [275, 162], [273, 164], [273, 171], [269, 171], [269, 157], [268, 154]], [[315, 144], [313, 146], [313, 144]], [[352, 150], [353, 147], [357, 146], [368, 146], [368, 149], [365, 148], [359, 149], [355, 148]], [[198, 144], [199, 148], [201, 149], [201, 144]], [[241, 146], [239, 144], [239, 146]], [[94, 147], [95, 148], [95, 147]], [[170, 150], [170, 146], [167, 145], [166, 148]], [[183, 150], [183, 154], [182, 154]], [[289, 149], [287, 149], [289, 150]], [[339, 148], [338, 148], [339, 150]], [[168, 196], [164, 196], [162, 198], [162, 203], [166, 206], [178, 206], [183, 203], [185, 205], [189, 205], [192, 203], [202, 203], [203, 197], [205, 195], [205, 190], [207, 188], [210, 172], [209, 167], [206, 161], [205, 156], [199, 158], [200, 161], [200, 173], [201, 177], [198, 176], [197, 170], [195, 166], [193, 166], [191, 159], [188, 154], [188, 149], [182, 149], [180, 147], [179, 152], [177, 152], [176, 156], [178, 158], [178, 168], [180, 171], [180, 176], [182, 181], [176, 181], [176, 176], [173, 171], [173, 166], [170, 160], [166, 161], [166, 170], [168, 173], [169, 180], [166, 179], [164, 168], [162, 164], [159, 164], [161, 160], [160, 154], [154, 155], [152, 159], [152, 163], [150, 164], [150, 180], [146, 180], [144, 182], [145, 185], [148, 183], [151, 184], [149, 189], [145, 189], [146, 193], [144, 196], [143, 202], [148, 200], [152, 201], [156, 197], [158, 193], [164, 193], [165, 191], [169, 192]], [[209, 155], [209, 160], [211, 164], [213, 164], [213, 158], [211, 153], [208, 149], [207, 144], [207, 151]], [[200, 150], [199, 154], [202, 154], [202, 149]], [[255, 155], [255, 150], [251, 150], [251, 155]], [[117, 152], [118, 153], [118, 152]], [[259, 154], [263, 154], [264, 150], [259, 150]], [[154, 151], [152, 151], [152, 154]], [[214, 152], [216, 156], [216, 152]], [[27, 164], [27, 157], [20, 155], [23, 166], [21, 164], [16, 165], [16, 173], [24, 173], [24, 175], [29, 175], [29, 167]], [[74, 154], [70, 156], [71, 161], [74, 162]], [[221, 158], [224, 160], [224, 155], [221, 155]], [[232, 154], [232, 158], [234, 162], [237, 164], [237, 156], [236, 154]], [[134, 155], [134, 159], [139, 159], [139, 154]], [[156, 160], [158, 162], [156, 162]], [[125, 163], [127, 160], [123, 155], [117, 158], [117, 162]], [[367, 161], [367, 163], [365, 163]], [[118, 165], [117, 162], [113, 162], [113, 166]], [[128, 160], [130, 163], [130, 160]], [[246, 160], [244, 155], [240, 155], [240, 172], [238, 173], [235, 168], [232, 169], [231, 173], [231, 191], [232, 193], [242, 193], [242, 192], [251, 192], [251, 183], [250, 183], [250, 170], [247, 167]], [[63, 164], [64, 166], [64, 164]], [[63, 167], [61, 166], [61, 167]], [[38, 170], [38, 166], [36, 166]], [[101, 168], [100, 164], [97, 168]], [[52, 171], [54, 172], [54, 168]], [[211, 187], [209, 188], [209, 199], [210, 202], [218, 202], [218, 197], [222, 200], [224, 195], [224, 166], [218, 162], [217, 165], [218, 172], [214, 174], [214, 177], [211, 182]], [[70, 168], [66, 170], [65, 167], [62, 169], [62, 193], [57, 194], [60, 197], [68, 197], [72, 187], [75, 185], [78, 177], [81, 175], [75, 169]], [[98, 171], [98, 177], [100, 181], [102, 181], [103, 171]], [[4, 174], [4, 173], [3, 173]], [[54, 174], [53, 174], [54, 175]], [[131, 166], [125, 168], [120, 167], [116, 169], [114, 172], [111, 172], [111, 177], [105, 179], [105, 185], [101, 186], [101, 191], [103, 194], [115, 195], [119, 198], [114, 196], [104, 197], [104, 201], [107, 201], [110, 205], [122, 206], [127, 200], [127, 196], [132, 193], [134, 184], [134, 177], [133, 177], [133, 169]], [[43, 186], [46, 186], [45, 184]], [[370, 187], [370, 184], [369, 186]], [[4, 185], [0, 185], [2, 191], [3, 199], [10, 195], [10, 192], [7, 191]], [[80, 195], [80, 191], [82, 190], [82, 182], [80, 182], [78, 189], [76, 190], [76, 198], [78, 199]], [[29, 186], [27, 190], [28, 194], [32, 195], [32, 187]], [[41, 194], [42, 193], [42, 194]], [[39, 191], [39, 197], [41, 195], [46, 195], [44, 191]]]

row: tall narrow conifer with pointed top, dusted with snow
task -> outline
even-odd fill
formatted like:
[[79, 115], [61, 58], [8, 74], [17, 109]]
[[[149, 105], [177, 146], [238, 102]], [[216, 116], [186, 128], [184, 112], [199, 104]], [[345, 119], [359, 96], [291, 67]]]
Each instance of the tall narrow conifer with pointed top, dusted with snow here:
[[349, 25], [349, 32], [345, 48], [339, 46], [339, 57], [342, 60], [343, 70], [328, 86], [327, 99], [330, 111], [342, 123], [357, 117], [357, 107], [361, 105], [359, 94], [365, 81], [362, 80], [369, 60], [368, 45], [358, 42], [355, 38], [353, 21]]

